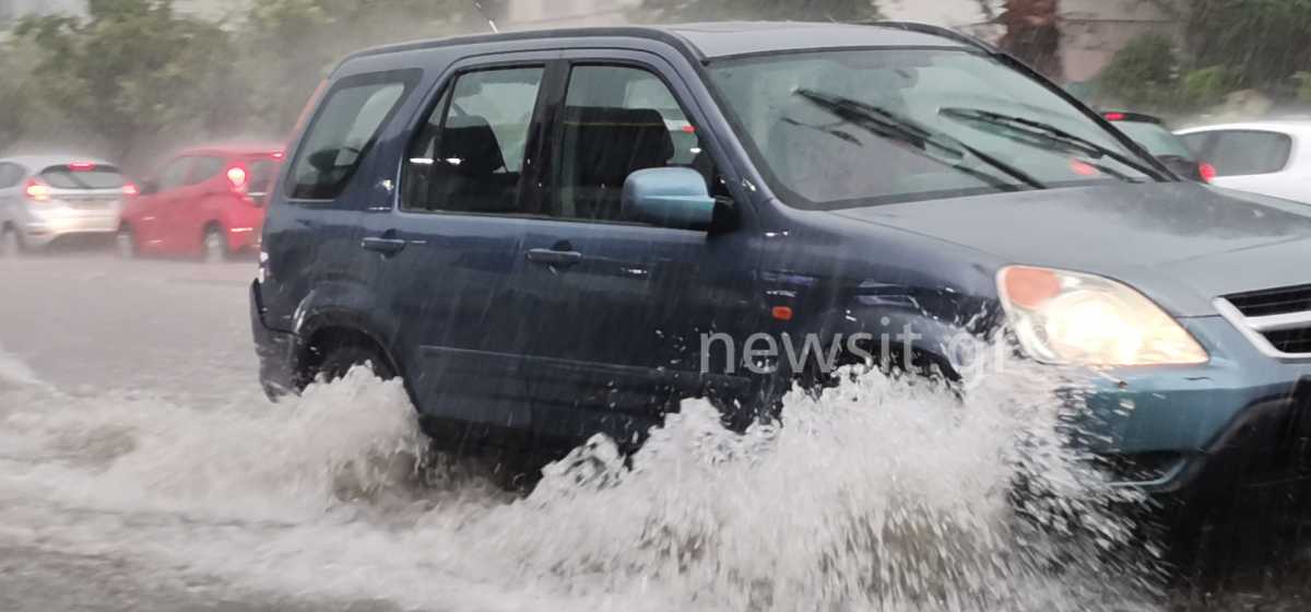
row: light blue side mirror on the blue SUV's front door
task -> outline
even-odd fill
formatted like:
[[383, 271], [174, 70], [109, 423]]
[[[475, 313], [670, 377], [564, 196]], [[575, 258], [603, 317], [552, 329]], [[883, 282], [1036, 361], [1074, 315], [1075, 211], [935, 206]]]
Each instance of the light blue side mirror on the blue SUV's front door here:
[[673, 229], [709, 229], [714, 198], [690, 168], [637, 170], [624, 181], [623, 219]]

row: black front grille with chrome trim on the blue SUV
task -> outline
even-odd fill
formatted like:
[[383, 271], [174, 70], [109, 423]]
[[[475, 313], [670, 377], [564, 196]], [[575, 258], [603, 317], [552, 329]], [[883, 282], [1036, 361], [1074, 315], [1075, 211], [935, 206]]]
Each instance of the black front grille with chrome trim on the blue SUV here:
[[1311, 284], [1228, 295], [1215, 305], [1262, 353], [1311, 356]]

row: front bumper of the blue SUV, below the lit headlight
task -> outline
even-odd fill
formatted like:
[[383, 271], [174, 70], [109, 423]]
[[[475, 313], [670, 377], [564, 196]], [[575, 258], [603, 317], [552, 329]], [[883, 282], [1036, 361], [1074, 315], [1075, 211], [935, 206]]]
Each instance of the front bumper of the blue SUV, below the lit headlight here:
[[1181, 322], [1211, 350], [1210, 363], [1109, 372], [1087, 396], [1083, 446], [1129, 459], [1116, 465], [1150, 464], [1120, 481], [1158, 499], [1240, 512], [1302, 505], [1311, 362], [1272, 359], [1218, 316]]

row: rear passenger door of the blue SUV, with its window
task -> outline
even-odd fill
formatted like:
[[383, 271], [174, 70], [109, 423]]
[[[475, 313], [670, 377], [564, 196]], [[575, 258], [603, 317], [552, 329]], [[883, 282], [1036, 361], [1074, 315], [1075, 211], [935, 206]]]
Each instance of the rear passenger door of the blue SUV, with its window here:
[[406, 131], [395, 208], [364, 215], [374, 278], [406, 338], [408, 381], [437, 436], [522, 446], [531, 410], [526, 326], [513, 278], [528, 203], [541, 84], [558, 52], [480, 58], [451, 69]]

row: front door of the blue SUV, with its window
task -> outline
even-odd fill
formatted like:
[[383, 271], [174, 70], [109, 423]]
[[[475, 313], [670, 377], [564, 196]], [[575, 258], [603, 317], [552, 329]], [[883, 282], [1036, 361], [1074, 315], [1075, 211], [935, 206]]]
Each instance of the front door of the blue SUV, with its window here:
[[531, 297], [522, 324], [534, 330], [524, 368], [535, 432], [548, 444], [591, 432], [632, 442], [682, 398], [746, 385], [703, 370], [701, 345], [753, 329], [756, 249], [741, 227], [623, 218], [624, 181], [650, 168], [696, 169], [721, 207], [737, 204], [705, 122], [667, 63], [619, 51], [566, 58], [544, 147], [548, 219], [527, 221], [517, 280]]

